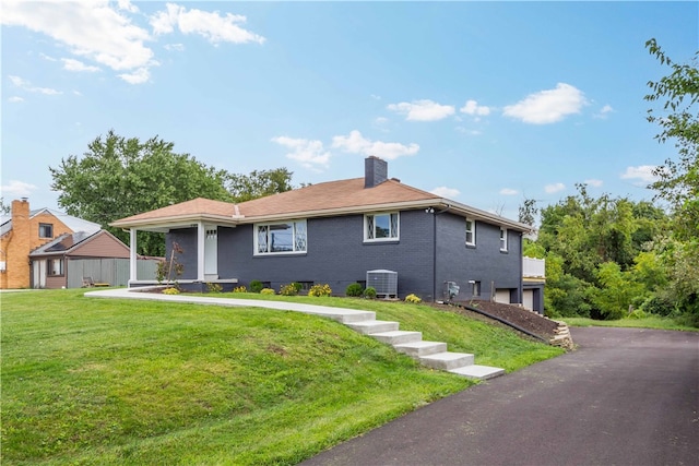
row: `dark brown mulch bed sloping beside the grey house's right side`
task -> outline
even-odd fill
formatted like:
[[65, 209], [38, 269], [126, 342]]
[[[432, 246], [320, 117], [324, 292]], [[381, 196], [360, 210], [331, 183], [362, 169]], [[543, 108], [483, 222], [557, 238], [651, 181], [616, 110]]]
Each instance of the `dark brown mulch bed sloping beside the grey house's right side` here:
[[550, 319], [546, 319], [535, 312], [531, 312], [531, 311], [528, 311], [526, 309], [522, 309], [519, 306], [505, 304], [501, 302], [490, 302], [490, 301], [469, 301], [469, 302], [457, 302], [454, 304], [459, 304], [459, 306], [450, 306], [450, 304], [435, 304], [435, 306], [443, 310], [449, 310], [451, 312], [459, 312], [460, 314], [467, 315], [470, 318], [486, 320], [488, 322], [497, 322], [497, 321], [494, 321], [493, 319], [488, 319], [483, 314], [465, 309], [462, 306], [475, 308], [490, 315], [495, 315], [499, 319], [502, 319], [503, 321], [514, 324], [521, 328], [524, 328], [528, 332], [531, 332], [534, 335], [538, 335], [542, 338], [545, 338], [547, 340], [553, 338], [556, 335], [556, 330], [558, 328], [557, 322], [552, 321]]

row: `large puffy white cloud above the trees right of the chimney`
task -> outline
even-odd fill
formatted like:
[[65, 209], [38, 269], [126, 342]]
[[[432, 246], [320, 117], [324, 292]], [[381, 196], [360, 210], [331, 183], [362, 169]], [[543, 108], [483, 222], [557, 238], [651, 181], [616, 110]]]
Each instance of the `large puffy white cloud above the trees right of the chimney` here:
[[547, 124], [566, 116], [580, 113], [588, 101], [583, 93], [570, 84], [558, 83], [555, 89], [530, 94], [523, 100], [505, 107], [503, 115], [525, 123]]

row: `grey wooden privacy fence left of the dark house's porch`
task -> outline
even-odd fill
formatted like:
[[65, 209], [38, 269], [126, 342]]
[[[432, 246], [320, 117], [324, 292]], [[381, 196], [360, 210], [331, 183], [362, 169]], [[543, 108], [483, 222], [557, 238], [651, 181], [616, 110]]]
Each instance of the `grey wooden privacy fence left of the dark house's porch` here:
[[[137, 261], [137, 278], [154, 280], [157, 259], [140, 259]], [[92, 277], [95, 283], [108, 283], [109, 286], [127, 286], [129, 284], [128, 259], [70, 259], [68, 261], [68, 288], [83, 286], [83, 277]]]

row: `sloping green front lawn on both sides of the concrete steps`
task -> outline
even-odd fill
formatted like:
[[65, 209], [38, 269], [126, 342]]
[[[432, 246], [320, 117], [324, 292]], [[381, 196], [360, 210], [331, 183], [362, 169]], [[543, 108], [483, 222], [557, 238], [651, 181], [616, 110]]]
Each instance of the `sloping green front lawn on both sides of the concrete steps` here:
[[[296, 464], [473, 384], [325, 319], [83, 292], [0, 295], [3, 465]], [[508, 371], [561, 353], [429, 306], [295, 299]]]

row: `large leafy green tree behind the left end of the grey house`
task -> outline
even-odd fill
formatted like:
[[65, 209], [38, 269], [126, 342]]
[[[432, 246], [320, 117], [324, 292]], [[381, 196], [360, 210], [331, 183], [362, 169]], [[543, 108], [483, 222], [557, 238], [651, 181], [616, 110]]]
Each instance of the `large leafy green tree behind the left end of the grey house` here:
[[[199, 196], [232, 200], [224, 170], [175, 153], [171, 142], [157, 136], [141, 142], [110, 130], [82, 157], [70, 155], [49, 170], [51, 189], [68, 214], [100, 224], [127, 243], [128, 234], [110, 222]], [[162, 255], [164, 246], [161, 235], [139, 236], [139, 253]]]

